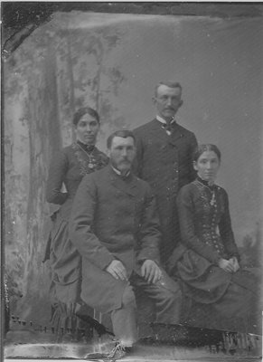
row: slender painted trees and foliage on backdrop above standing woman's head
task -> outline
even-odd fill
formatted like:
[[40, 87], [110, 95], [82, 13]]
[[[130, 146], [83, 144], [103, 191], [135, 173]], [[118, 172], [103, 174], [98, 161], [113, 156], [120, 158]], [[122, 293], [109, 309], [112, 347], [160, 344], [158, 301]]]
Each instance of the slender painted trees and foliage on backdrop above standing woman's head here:
[[123, 28], [109, 26], [90, 32], [76, 30], [68, 37], [75, 109], [89, 104], [98, 110], [104, 137], [125, 124], [117, 109], [117, 96], [126, 78], [113, 57], [124, 36]]

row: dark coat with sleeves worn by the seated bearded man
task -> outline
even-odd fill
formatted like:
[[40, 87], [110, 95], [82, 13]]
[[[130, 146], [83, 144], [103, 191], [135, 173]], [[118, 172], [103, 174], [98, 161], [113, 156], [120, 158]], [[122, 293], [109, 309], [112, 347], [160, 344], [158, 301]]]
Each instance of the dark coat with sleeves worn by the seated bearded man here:
[[155, 195], [145, 181], [118, 176], [110, 166], [84, 176], [70, 216], [70, 239], [82, 256], [81, 299], [102, 312], [120, 308], [127, 282], [106, 268], [117, 259], [130, 276], [146, 259], [158, 263], [160, 237]]

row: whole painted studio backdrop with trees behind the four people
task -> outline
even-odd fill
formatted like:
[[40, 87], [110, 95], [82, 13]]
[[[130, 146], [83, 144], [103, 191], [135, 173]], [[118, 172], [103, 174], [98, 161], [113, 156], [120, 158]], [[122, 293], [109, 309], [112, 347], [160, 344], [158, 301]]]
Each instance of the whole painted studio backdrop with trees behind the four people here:
[[[221, 148], [219, 185], [230, 195], [236, 240], [258, 263], [262, 169], [262, 18], [53, 14], [4, 64], [5, 274], [11, 313], [48, 324], [54, 211], [48, 168], [74, 133], [74, 110], [99, 110], [99, 148], [117, 129], [155, 116], [158, 81], [180, 81], [178, 123]], [[254, 251], [254, 252], [253, 252]]]

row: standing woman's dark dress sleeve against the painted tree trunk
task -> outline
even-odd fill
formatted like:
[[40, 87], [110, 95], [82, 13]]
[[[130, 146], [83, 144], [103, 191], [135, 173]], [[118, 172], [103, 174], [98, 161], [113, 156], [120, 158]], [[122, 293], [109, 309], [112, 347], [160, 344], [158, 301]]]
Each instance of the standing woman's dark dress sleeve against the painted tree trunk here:
[[48, 203], [62, 205], [68, 197], [68, 193], [61, 192], [61, 186], [68, 170], [68, 159], [61, 151], [52, 160], [49, 170], [48, 182], [46, 187], [46, 200]]

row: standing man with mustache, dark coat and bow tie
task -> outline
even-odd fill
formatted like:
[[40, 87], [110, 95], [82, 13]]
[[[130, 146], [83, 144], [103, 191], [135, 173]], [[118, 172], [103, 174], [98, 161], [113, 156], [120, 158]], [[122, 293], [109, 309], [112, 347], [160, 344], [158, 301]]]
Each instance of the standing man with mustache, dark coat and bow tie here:
[[177, 124], [174, 116], [183, 105], [178, 82], [160, 82], [153, 101], [155, 119], [134, 130], [135, 173], [152, 186], [163, 233], [161, 262], [166, 264], [180, 239], [175, 199], [179, 189], [194, 179], [192, 154], [197, 142], [193, 132]]

